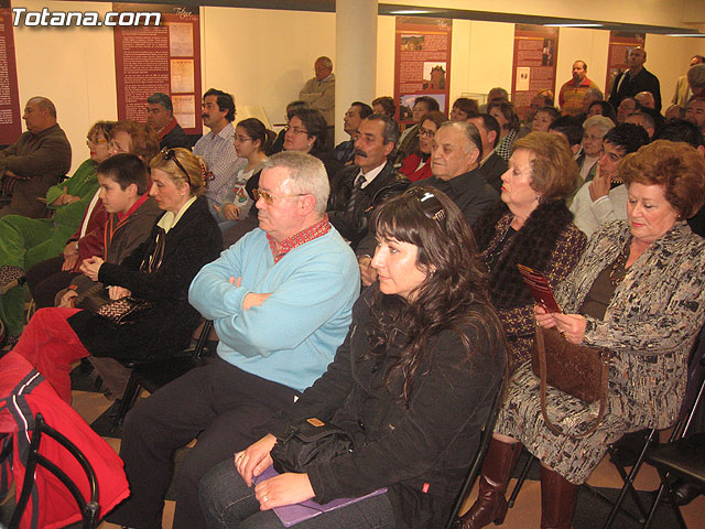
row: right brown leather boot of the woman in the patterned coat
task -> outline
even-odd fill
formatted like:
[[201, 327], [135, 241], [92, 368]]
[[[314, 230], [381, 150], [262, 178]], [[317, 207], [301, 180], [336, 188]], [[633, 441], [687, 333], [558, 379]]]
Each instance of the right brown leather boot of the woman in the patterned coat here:
[[578, 486], [541, 465], [541, 529], [571, 529]]

